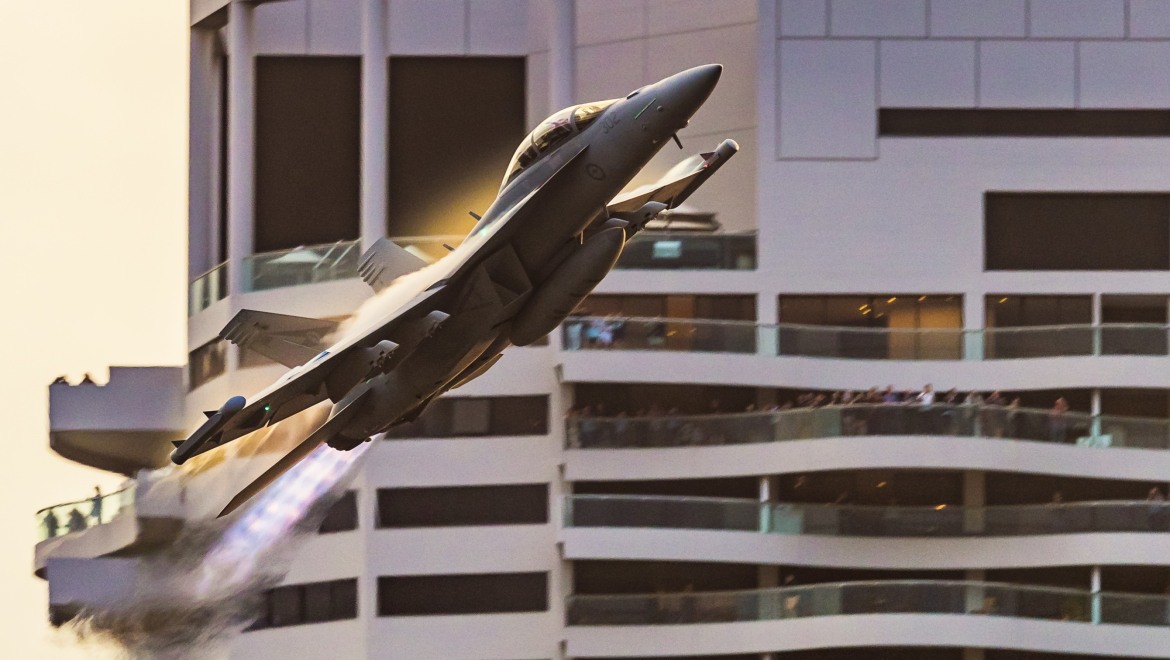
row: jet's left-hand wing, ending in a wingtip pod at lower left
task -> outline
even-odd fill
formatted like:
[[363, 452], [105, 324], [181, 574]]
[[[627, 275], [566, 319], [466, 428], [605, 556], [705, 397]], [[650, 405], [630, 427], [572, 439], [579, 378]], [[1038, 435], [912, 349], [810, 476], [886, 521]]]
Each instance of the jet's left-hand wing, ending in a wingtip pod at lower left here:
[[[329, 398], [325, 381], [330, 376], [339, 369], [352, 367], [352, 358], [360, 359], [360, 351], [402, 332], [412, 321], [425, 322], [427, 312], [431, 311], [425, 304], [426, 301], [442, 289], [441, 286], [432, 287], [417, 294], [377, 325], [365, 331], [357, 331], [328, 350], [321, 351], [308, 363], [294, 366], [242, 407], [230, 406], [235, 399], [233, 398], [220, 411], [208, 413], [211, 418], [208, 424], [178, 444], [171, 454], [171, 460], [181, 465], [193, 456], [325, 400]], [[229, 323], [228, 326], [230, 325]]]

